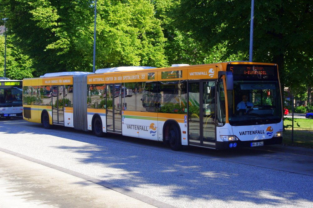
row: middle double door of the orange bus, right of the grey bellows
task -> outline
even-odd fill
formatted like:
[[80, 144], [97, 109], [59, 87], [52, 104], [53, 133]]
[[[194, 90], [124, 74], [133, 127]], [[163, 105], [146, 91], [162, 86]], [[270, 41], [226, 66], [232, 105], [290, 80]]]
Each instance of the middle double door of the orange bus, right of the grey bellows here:
[[106, 85], [106, 130], [122, 133], [121, 84]]

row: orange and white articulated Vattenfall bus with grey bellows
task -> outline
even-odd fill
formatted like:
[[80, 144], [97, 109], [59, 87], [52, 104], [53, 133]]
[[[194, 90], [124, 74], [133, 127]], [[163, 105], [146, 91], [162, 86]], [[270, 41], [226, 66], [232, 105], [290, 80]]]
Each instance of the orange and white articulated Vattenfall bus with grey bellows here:
[[116, 67], [23, 80], [25, 120], [168, 143], [234, 149], [280, 144], [278, 68], [224, 62]]

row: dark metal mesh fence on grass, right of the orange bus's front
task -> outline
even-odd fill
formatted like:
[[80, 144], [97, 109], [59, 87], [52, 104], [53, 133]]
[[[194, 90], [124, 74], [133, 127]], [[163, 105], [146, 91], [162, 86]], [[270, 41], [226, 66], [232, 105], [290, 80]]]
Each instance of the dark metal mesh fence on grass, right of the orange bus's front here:
[[283, 144], [313, 148], [313, 119], [305, 117], [306, 113], [313, 113], [313, 105], [293, 97], [284, 101]]

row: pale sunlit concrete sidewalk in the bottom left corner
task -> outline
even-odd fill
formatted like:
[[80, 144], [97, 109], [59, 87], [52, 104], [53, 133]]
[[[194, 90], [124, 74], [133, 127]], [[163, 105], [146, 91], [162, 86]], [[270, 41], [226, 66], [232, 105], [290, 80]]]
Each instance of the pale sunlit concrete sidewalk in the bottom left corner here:
[[143, 201], [0, 151], [1, 208], [146, 207]]

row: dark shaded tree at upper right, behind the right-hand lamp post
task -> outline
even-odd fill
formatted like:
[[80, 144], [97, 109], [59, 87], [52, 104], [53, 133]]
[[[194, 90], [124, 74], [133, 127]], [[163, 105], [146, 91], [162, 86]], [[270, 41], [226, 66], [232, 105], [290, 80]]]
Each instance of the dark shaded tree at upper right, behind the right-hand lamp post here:
[[[253, 60], [277, 63], [285, 86], [312, 86], [311, 1], [264, 0], [254, 6]], [[203, 48], [227, 43], [229, 57], [249, 51], [250, 11], [251, 2], [244, 0], [182, 0], [175, 13], [178, 28]]]

